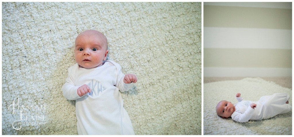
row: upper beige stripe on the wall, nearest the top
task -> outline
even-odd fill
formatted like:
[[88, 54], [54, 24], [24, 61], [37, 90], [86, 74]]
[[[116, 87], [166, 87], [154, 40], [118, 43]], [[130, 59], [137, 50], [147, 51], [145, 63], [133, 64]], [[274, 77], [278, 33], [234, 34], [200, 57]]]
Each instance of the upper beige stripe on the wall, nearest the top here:
[[204, 5], [203, 26], [292, 29], [292, 9]]

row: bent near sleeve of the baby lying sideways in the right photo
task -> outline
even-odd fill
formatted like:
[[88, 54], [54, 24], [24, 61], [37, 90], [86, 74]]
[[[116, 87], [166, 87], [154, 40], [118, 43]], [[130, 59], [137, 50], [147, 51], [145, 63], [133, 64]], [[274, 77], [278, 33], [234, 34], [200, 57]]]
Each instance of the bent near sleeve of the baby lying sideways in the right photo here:
[[234, 121], [237, 122], [248, 122], [251, 118], [252, 114], [254, 112], [254, 109], [251, 107], [248, 107], [247, 110], [242, 114], [240, 112], [234, 112], [231, 117]]

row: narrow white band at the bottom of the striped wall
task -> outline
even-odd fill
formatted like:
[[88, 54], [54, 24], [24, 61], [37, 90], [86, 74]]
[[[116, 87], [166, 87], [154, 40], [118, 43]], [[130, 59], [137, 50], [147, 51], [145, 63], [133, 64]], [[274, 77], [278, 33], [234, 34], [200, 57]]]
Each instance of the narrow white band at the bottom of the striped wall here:
[[204, 77], [290, 77], [292, 68], [217, 68], [204, 67]]

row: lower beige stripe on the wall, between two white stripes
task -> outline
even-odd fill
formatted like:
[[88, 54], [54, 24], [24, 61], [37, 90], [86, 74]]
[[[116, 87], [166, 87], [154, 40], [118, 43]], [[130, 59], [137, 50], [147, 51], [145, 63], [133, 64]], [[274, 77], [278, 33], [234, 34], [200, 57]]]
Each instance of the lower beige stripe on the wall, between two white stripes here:
[[204, 67], [291, 68], [291, 49], [203, 49]]

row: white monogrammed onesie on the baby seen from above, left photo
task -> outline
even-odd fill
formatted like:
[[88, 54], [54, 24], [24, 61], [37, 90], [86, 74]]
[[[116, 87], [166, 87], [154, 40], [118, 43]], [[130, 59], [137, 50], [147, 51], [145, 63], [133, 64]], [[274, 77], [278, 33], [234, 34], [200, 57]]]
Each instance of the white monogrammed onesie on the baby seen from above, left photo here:
[[[75, 64], [68, 72], [69, 77], [62, 91], [67, 99], [76, 100], [79, 135], [135, 134], [118, 91], [128, 91], [134, 83], [123, 83], [125, 75], [119, 64], [109, 60], [96, 68], [83, 68]], [[83, 84], [87, 84], [92, 91], [80, 97], [77, 89]]]

